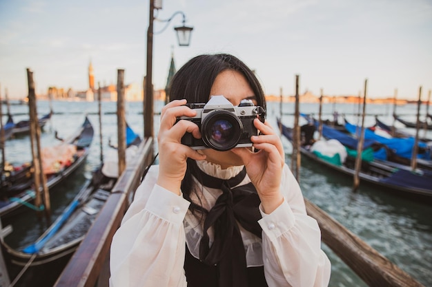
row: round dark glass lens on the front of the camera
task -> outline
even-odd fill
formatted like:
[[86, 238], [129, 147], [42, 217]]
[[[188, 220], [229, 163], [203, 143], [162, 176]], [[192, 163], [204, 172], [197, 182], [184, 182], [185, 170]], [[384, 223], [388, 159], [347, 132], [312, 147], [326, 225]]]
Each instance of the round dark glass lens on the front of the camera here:
[[212, 111], [201, 126], [202, 140], [217, 151], [233, 149], [242, 135], [242, 122], [230, 111]]

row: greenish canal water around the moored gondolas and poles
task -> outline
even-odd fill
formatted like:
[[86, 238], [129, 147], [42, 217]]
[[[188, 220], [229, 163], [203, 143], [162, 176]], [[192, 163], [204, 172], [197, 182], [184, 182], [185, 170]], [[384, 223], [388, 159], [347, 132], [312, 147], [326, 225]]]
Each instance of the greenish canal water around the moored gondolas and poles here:
[[[95, 138], [90, 148], [90, 155], [82, 169], [74, 173], [59, 187], [52, 190], [52, 220], [55, 220], [67, 204], [75, 197], [80, 187], [91, 178], [91, 172], [100, 163], [101, 145], [99, 141], [98, 103], [48, 101], [38, 102], [38, 114], [48, 113], [50, 106], [54, 115], [43, 128], [41, 134], [42, 147], [56, 145], [55, 131], [62, 138], [67, 138], [84, 122], [85, 114], [95, 127]], [[155, 111], [160, 111], [163, 103], [155, 103]], [[115, 151], [108, 147], [110, 140], [117, 144], [117, 103], [102, 103], [102, 151], [104, 157], [112, 156]], [[28, 107], [12, 105], [10, 107], [14, 121], [28, 118]], [[279, 103], [268, 103], [268, 120], [276, 127], [276, 116], [280, 113]], [[345, 114], [351, 123], [357, 123], [357, 107], [348, 104], [326, 104], [323, 106], [324, 118], [333, 118], [333, 111]], [[317, 104], [301, 104], [300, 110], [306, 114], [318, 114]], [[406, 120], [415, 120], [416, 105], [397, 107], [397, 114], [404, 115]], [[141, 137], [144, 134], [144, 116], [142, 103], [126, 103], [126, 120], [130, 127]], [[293, 104], [282, 105], [282, 122], [293, 125]], [[6, 107], [3, 106], [3, 113]], [[380, 120], [391, 125], [393, 118], [392, 105], [368, 105], [367, 114], [378, 114]], [[424, 114], [424, 107], [422, 108]], [[342, 118], [341, 118], [342, 120]], [[6, 116], [3, 117], [6, 123]], [[302, 123], [302, 121], [300, 122]], [[361, 123], [361, 120], [360, 120]], [[366, 125], [373, 125], [373, 116], [367, 116]], [[159, 116], [155, 116], [155, 132], [158, 130]], [[397, 127], [403, 127], [396, 123]], [[414, 134], [413, 129], [406, 129]], [[424, 131], [420, 136], [424, 136]], [[431, 131], [426, 136], [432, 138]], [[292, 146], [286, 138], [282, 138], [286, 151], [286, 162], [291, 159]], [[31, 160], [30, 141], [28, 136], [13, 138], [6, 142], [6, 160], [21, 164]], [[425, 286], [432, 286], [432, 209], [429, 204], [392, 195], [369, 184], [361, 184], [357, 192], [352, 191], [352, 179], [341, 176], [331, 170], [324, 169], [307, 158], [302, 158], [300, 186], [304, 197], [320, 206], [335, 220], [358, 235], [378, 252], [389, 258], [391, 262], [402, 268]], [[432, 184], [432, 183], [431, 183]], [[3, 227], [11, 224], [13, 233], [6, 237], [6, 242], [14, 248], [32, 243], [43, 233], [47, 224], [39, 220], [35, 211], [28, 209], [8, 221], [2, 222]], [[323, 244], [323, 249], [332, 263], [330, 286], [366, 286], [364, 282], [340, 260], [330, 248]]]

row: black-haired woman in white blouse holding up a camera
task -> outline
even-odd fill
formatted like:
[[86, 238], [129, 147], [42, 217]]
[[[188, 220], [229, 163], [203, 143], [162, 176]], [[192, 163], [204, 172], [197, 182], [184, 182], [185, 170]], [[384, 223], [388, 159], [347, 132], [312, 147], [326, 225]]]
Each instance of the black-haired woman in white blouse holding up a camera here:
[[[112, 240], [110, 286], [326, 286], [320, 228], [284, 163], [282, 142], [258, 118], [253, 147], [195, 150], [186, 103], [223, 95], [266, 107], [253, 72], [229, 54], [196, 56], [175, 74], [152, 166]], [[255, 149], [255, 150], [254, 150]]]

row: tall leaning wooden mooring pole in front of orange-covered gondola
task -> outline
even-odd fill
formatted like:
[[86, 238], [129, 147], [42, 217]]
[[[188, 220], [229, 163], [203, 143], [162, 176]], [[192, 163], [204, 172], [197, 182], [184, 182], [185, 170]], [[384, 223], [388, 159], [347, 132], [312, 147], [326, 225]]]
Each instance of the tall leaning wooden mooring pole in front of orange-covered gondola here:
[[41, 206], [41, 188], [43, 192], [43, 203], [45, 205], [45, 215], [48, 222], [51, 216], [50, 193], [46, 184], [46, 176], [43, 173], [43, 165], [41, 159], [41, 129], [37, 118], [35, 82], [33, 81], [33, 72], [27, 69], [28, 78], [28, 111], [30, 115], [30, 143], [33, 158], [33, 176], [35, 178], [35, 205]]

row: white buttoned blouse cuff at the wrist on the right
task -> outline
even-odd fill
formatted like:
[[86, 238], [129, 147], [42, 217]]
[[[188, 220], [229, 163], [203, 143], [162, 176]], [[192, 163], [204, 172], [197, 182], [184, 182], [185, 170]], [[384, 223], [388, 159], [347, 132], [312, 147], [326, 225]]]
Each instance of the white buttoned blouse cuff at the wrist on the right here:
[[294, 213], [286, 200], [270, 214], [264, 213], [261, 206], [259, 206], [259, 212], [262, 219], [258, 220], [258, 223], [272, 242], [294, 226]]

